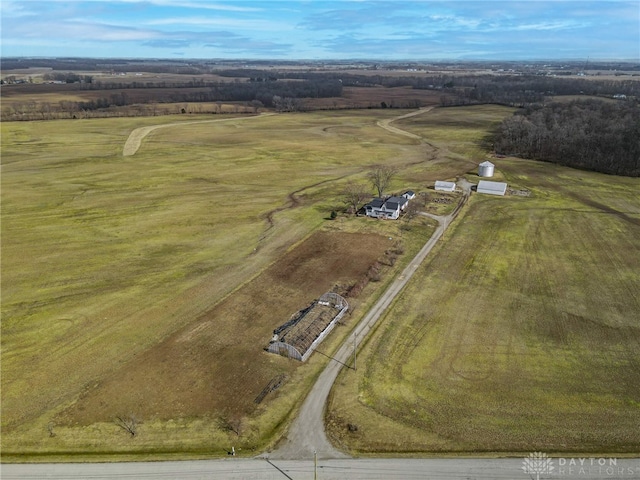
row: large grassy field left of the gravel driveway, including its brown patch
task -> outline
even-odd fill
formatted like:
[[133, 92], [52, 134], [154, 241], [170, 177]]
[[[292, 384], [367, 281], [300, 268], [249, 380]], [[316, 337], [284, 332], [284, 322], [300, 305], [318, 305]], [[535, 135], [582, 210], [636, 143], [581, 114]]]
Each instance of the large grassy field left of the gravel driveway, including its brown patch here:
[[[326, 361], [263, 352], [273, 328], [432, 231], [327, 220], [374, 164], [399, 168], [393, 188], [426, 188], [413, 179], [426, 147], [376, 126], [401, 113], [176, 126], [130, 157], [133, 129], [184, 117], [3, 122], [3, 459], [210, 456], [272, 440]], [[350, 301], [354, 319], [387, 277]], [[278, 374], [286, 384], [255, 404]], [[138, 417], [135, 438], [118, 415]]]

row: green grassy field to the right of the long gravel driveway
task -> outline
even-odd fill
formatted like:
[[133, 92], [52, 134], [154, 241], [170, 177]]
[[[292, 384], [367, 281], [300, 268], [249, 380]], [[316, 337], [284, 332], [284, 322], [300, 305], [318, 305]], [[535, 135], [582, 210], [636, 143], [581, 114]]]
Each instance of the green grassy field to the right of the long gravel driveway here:
[[365, 455], [637, 453], [640, 183], [492, 161], [531, 196], [474, 194], [339, 378], [330, 437]]

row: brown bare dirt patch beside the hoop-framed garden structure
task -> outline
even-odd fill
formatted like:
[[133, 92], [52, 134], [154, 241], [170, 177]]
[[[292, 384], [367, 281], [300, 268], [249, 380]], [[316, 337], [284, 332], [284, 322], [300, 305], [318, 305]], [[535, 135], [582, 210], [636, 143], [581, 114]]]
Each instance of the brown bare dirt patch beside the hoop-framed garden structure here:
[[250, 414], [272, 378], [302, 366], [263, 350], [273, 329], [333, 285], [357, 282], [390, 246], [380, 235], [312, 235], [197, 321], [89, 387], [59, 421]]

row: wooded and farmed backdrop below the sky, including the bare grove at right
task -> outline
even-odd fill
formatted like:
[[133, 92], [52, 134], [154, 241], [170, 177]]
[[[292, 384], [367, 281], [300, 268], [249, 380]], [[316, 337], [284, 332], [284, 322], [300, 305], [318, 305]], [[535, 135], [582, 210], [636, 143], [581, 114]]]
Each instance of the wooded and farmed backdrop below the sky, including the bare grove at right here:
[[[640, 66], [635, 64], [597, 65], [600, 70], [588, 74], [585, 65], [578, 64], [479, 63], [466, 69], [459, 64], [9, 59], [3, 68], [7, 66], [21, 67], [16, 71], [22, 77], [5, 75], [1, 80], [3, 100], [8, 100], [3, 121], [222, 113], [230, 108], [234, 113], [262, 108], [419, 108], [425, 100], [406, 92], [431, 90], [430, 105], [439, 99], [443, 107], [520, 107], [490, 140], [497, 154], [640, 176], [640, 81], [634, 78]], [[34, 81], [31, 70], [42, 79]], [[400, 89], [405, 90], [404, 100], [393, 97]], [[337, 101], [353, 99], [356, 90], [364, 101]], [[389, 98], [380, 92], [389, 92]], [[581, 100], [545, 104], [559, 96]]]

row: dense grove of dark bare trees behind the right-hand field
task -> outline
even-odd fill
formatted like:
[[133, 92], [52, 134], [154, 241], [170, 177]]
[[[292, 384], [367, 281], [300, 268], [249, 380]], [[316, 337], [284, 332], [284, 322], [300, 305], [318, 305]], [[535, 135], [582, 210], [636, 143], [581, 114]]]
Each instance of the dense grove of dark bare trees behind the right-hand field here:
[[640, 176], [640, 108], [632, 101], [531, 106], [505, 119], [493, 141], [498, 154]]

